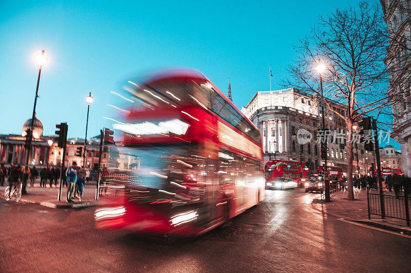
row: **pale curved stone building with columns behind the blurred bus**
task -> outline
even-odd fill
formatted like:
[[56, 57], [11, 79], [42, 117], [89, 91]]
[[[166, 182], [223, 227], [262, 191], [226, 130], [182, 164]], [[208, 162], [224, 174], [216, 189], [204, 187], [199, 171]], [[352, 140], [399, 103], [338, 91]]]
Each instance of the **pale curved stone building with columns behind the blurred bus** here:
[[[241, 109], [261, 132], [265, 161], [283, 159], [306, 162], [311, 173], [315, 173], [316, 168], [324, 163], [320, 139], [317, 138], [317, 130], [322, 128], [322, 112], [316, 101], [317, 98], [312, 95], [294, 88], [258, 91]], [[330, 102], [334, 109], [346, 111], [341, 104]], [[325, 118], [326, 128], [330, 130], [327, 163], [342, 167], [346, 173], [347, 129], [341, 118], [332, 114], [326, 114]], [[304, 144], [298, 141], [298, 135], [304, 132], [302, 129], [310, 135]], [[373, 158], [373, 153], [364, 151], [362, 144], [354, 145], [353, 170], [357, 170], [358, 166], [359, 173], [365, 174], [373, 165]]]

